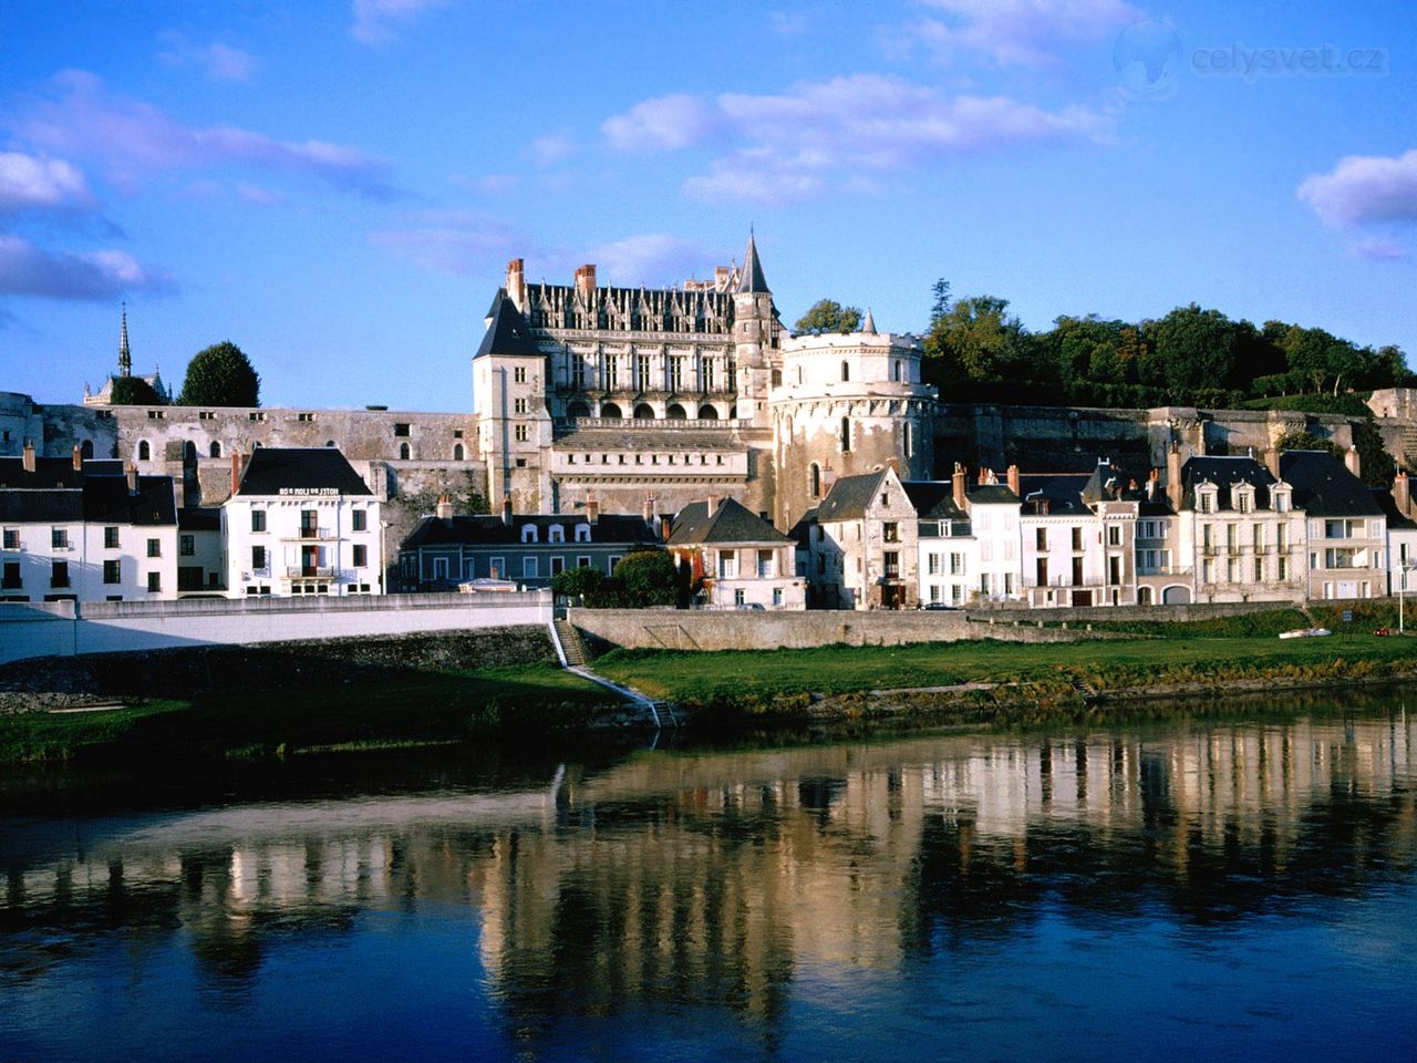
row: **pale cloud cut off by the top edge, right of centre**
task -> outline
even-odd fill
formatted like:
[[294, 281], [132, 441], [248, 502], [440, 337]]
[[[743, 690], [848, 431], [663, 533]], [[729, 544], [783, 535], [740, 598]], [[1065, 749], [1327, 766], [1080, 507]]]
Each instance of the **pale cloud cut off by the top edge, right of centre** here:
[[1068, 45], [1105, 40], [1142, 18], [1124, 0], [922, 0], [941, 17], [908, 27], [911, 40], [951, 57], [969, 51], [1000, 67], [1039, 67]]

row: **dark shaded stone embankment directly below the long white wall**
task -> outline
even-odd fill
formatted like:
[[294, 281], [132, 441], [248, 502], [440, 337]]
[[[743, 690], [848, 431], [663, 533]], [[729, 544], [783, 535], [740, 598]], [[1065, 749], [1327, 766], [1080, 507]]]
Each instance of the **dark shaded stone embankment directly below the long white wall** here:
[[387, 638], [188, 646], [0, 665], [0, 714], [130, 699], [347, 686], [421, 672], [554, 662], [541, 625]]

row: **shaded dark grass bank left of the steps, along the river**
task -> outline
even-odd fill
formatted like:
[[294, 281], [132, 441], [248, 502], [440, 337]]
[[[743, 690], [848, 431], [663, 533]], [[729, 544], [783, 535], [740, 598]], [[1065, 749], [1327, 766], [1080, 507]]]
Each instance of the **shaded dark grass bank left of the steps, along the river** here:
[[410, 748], [582, 726], [615, 697], [554, 665], [0, 717], [0, 764]]

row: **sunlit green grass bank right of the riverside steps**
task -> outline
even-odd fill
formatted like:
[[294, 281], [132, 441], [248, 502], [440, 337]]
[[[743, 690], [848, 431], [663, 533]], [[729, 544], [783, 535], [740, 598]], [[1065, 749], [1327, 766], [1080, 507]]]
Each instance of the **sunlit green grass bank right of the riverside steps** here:
[[1039, 694], [1152, 683], [1226, 683], [1275, 677], [1291, 685], [1382, 677], [1411, 663], [1417, 643], [1372, 635], [1326, 639], [1117, 639], [1068, 643], [954, 642], [823, 646], [761, 652], [614, 651], [601, 675], [684, 706], [767, 707], [806, 693], [969, 682], [1037, 685]]

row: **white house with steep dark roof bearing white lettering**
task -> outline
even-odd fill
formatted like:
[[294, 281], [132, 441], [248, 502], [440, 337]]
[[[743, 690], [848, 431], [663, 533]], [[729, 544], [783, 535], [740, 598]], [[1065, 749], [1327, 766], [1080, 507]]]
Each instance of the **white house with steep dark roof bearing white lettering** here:
[[231, 597], [384, 592], [380, 502], [336, 448], [258, 446], [231, 478]]

